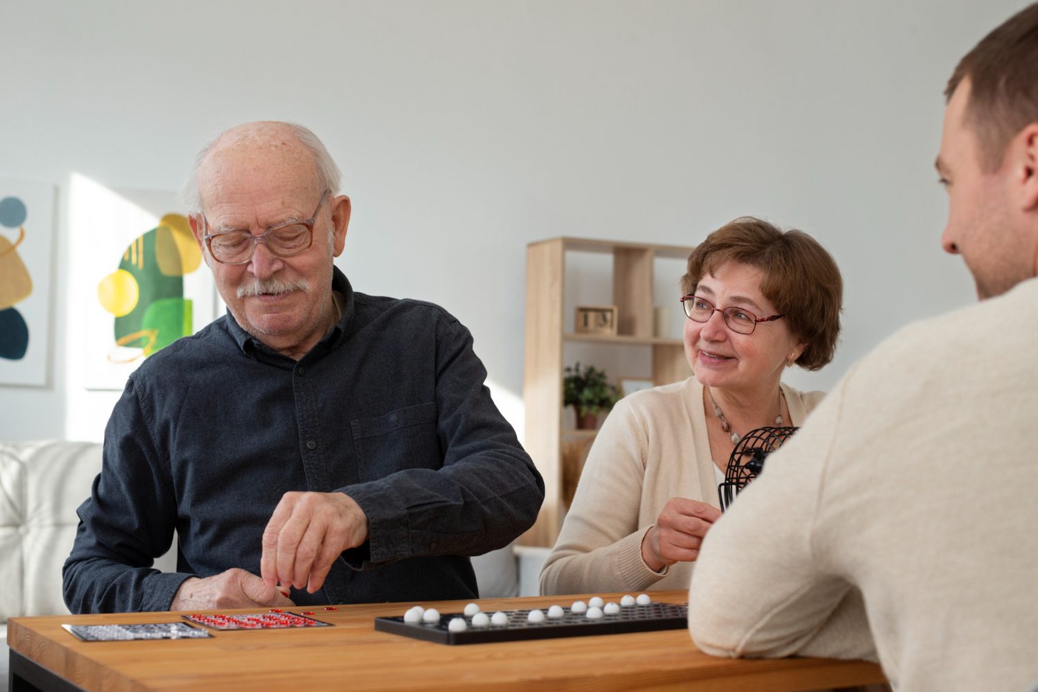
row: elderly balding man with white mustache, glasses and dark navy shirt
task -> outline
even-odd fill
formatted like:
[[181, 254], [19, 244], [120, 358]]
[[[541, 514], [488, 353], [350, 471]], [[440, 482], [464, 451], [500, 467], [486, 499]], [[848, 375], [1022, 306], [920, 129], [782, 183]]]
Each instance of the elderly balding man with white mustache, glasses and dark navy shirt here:
[[[70, 609], [475, 597], [466, 556], [528, 528], [544, 485], [468, 330], [335, 269], [350, 199], [305, 128], [234, 128], [191, 181], [228, 314], [130, 377], [79, 508]], [[160, 573], [174, 529], [177, 571]]]

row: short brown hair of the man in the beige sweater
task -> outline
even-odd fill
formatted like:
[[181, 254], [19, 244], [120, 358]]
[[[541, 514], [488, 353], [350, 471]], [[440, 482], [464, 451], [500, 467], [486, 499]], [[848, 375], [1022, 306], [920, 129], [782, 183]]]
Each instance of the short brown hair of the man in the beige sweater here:
[[966, 123], [977, 134], [982, 167], [1002, 165], [1006, 146], [1038, 122], [1038, 3], [1006, 20], [965, 54], [948, 80], [945, 99], [969, 79]]

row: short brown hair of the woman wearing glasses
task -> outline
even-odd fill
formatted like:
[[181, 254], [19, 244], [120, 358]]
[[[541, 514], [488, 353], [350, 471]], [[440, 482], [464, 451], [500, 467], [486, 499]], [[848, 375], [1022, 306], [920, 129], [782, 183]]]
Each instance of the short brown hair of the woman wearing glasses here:
[[707, 236], [688, 255], [682, 295], [694, 294], [704, 275], [730, 261], [764, 273], [761, 293], [785, 315], [790, 332], [808, 344], [797, 365], [817, 370], [832, 360], [840, 337], [843, 277], [818, 241], [802, 230], [783, 232], [767, 221], [740, 217]]

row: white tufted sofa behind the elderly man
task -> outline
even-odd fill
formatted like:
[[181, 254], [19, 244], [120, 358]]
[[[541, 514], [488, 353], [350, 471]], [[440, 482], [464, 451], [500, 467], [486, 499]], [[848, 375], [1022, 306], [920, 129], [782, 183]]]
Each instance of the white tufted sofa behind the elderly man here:
[[[61, 565], [76, 536], [76, 508], [100, 470], [97, 443], [0, 442], [0, 692], [8, 685], [7, 618], [69, 612]], [[156, 566], [174, 570], [175, 552]], [[480, 594], [536, 596], [547, 553], [508, 546], [473, 558]]]

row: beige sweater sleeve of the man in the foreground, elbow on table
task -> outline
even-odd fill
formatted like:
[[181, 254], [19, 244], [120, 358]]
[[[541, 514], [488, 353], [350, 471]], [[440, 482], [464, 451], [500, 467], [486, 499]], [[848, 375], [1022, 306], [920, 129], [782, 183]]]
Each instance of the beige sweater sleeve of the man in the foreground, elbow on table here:
[[875, 659], [857, 589], [815, 543], [849, 373], [770, 455], [703, 543], [689, 592], [695, 644], [727, 657]]

